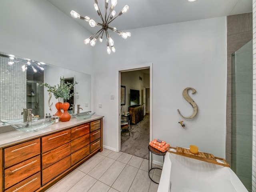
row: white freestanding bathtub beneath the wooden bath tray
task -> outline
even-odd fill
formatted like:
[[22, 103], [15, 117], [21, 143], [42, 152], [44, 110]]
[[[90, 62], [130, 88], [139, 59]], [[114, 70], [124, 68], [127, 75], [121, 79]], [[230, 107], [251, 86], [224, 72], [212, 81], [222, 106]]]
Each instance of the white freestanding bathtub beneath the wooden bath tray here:
[[169, 152], [164, 158], [157, 191], [248, 192], [230, 168]]

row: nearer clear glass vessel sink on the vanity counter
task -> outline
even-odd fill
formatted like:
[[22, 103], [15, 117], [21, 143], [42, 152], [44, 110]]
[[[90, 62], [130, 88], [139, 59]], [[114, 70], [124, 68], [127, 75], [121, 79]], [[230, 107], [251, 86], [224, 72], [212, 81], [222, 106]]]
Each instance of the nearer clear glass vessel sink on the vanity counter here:
[[40, 119], [36, 121], [31, 122], [31, 126], [28, 122], [22, 122], [18, 124], [11, 125], [13, 128], [15, 128], [18, 131], [22, 132], [35, 132], [42, 128], [46, 128], [49, 125], [53, 124], [55, 122], [55, 119]]

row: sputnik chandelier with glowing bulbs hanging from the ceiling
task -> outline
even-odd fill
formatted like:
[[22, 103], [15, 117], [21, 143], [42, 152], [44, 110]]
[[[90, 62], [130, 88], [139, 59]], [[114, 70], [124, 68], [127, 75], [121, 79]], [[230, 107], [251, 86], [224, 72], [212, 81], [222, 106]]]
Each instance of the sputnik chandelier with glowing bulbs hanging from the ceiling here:
[[89, 22], [91, 27], [101, 26], [102, 28], [100, 30], [98, 30], [98, 32], [96, 32], [96, 34], [94, 34], [93, 36], [90, 36], [89, 38], [84, 40], [84, 43], [86, 45], [90, 43], [91, 46], [95, 46], [98, 39], [99, 39], [100, 42], [102, 42], [103, 36], [104, 36], [104, 33], [105, 33], [106, 34], [107, 53], [110, 54], [111, 50], [114, 53], [114, 52], [116, 52], [116, 49], [114, 48], [114, 41], [112, 40], [112, 38], [108, 34], [108, 29], [116, 32], [118, 35], [122, 36], [122, 38], [124, 38], [124, 39], [126, 39], [127, 37], [130, 37], [131, 33], [130, 32], [119, 31], [115, 27], [112, 28], [112, 27], [109, 26], [109, 24], [115, 18], [122, 15], [123, 13], [126, 13], [129, 10], [129, 6], [125, 5], [124, 8], [118, 13], [118, 15], [115, 16], [116, 11], [114, 10], [114, 8], [117, 4], [117, 0], [111, 0], [111, 5], [110, 5], [110, 8], [109, 8], [109, 13], [108, 13], [108, 17], [107, 17], [108, 1], [109, 0], [105, 0], [105, 17], [103, 18], [102, 14], [100, 12], [99, 6], [98, 6], [98, 0], [94, 0], [94, 2], [95, 2], [94, 3], [94, 8], [95, 8], [96, 12], [98, 13], [98, 15], [100, 16], [100, 18], [102, 20], [102, 23], [95, 22], [93, 19], [89, 18], [88, 16], [85, 16], [85, 17], [81, 16], [80, 14], [78, 14], [77, 12], [75, 12], [73, 10], [70, 12], [70, 14], [74, 18], [79, 18], [79, 19], [85, 20], [86, 22]]

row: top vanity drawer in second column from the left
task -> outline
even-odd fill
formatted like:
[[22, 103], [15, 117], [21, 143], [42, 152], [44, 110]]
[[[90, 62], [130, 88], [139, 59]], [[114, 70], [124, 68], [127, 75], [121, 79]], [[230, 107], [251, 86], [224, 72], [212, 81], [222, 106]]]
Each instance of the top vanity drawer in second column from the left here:
[[42, 137], [42, 153], [70, 142], [70, 129]]

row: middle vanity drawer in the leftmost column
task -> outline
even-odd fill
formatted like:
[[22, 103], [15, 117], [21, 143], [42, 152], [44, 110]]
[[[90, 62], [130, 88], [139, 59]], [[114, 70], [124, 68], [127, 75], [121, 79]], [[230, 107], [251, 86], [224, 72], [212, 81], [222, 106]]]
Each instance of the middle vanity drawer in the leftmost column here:
[[26, 179], [40, 171], [40, 155], [4, 170], [4, 188]]

